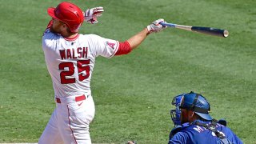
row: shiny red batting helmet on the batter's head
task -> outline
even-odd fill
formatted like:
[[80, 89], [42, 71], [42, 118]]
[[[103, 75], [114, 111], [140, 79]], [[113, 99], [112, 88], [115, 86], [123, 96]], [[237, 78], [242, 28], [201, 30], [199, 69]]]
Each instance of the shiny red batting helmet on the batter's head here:
[[74, 33], [78, 32], [84, 20], [82, 10], [70, 2], [62, 2], [56, 8], [49, 7], [47, 11], [52, 18], [66, 23], [70, 31]]

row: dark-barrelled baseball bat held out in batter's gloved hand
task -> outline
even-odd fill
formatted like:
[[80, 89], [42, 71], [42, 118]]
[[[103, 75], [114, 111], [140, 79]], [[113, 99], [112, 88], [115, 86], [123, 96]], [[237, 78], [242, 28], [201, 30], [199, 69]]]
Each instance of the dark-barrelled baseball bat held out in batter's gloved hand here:
[[227, 30], [215, 29], [212, 27], [185, 26], [185, 25], [177, 25], [174, 23], [165, 23], [165, 22], [161, 22], [160, 24], [162, 26], [169, 26], [169, 27], [174, 27], [182, 30], [189, 30], [189, 31], [194, 31], [202, 34], [210, 34], [210, 35], [215, 35], [215, 36], [224, 37], [224, 38], [226, 38], [229, 35], [229, 32]]

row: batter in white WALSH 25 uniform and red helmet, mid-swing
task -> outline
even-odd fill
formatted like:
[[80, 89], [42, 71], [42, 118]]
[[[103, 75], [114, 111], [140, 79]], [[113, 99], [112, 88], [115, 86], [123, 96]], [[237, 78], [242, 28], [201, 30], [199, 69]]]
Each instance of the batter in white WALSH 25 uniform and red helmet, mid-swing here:
[[125, 42], [102, 38], [95, 34], [78, 34], [83, 21], [98, 23], [104, 11], [95, 7], [83, 12], [70, 2], [48, 8], [52, 17], [42, 37], [42, 50], [52, 78], [56, 108], [39, 144], [90, 144], [89, 125], [94, 118], [94, 100], [90, 78], [95, 58], [112, 58], [129, 54], [147, 35], [165, 28], [158, 19]]

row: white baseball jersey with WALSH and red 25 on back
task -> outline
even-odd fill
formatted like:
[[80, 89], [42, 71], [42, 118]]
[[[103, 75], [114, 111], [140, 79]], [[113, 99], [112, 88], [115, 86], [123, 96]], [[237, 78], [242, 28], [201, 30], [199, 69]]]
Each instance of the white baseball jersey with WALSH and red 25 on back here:
[[42, 49], [52, 78], [55, 97], [90, 94], [90, 78], [95, 58], [111, 58], [119, 42], [95, 34], [78, 34], [63, 38], [47, 29], [42, 37]]

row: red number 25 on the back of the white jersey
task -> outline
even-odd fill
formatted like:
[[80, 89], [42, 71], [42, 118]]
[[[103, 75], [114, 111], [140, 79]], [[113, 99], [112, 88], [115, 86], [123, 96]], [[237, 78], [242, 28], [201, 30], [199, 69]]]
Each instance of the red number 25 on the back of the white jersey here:
[[[77, 68], [78, 68], [78, 80], [83, 81], [90, 76], [90, 59], [88, 60], [78, 60]], [[60, 73], [61, 83], [69, 84], [74, 83], [75, 78], [67, 78], [68, 76], [72, 76], [74, 74], [74, 64], [73, 62], [62, 62], [58, 65], [59, 70], [64, 70], [67, 67], [69, 70], [62, 71]], [[86, 75], [83, 75], [83, 71], [86, 71]]]

